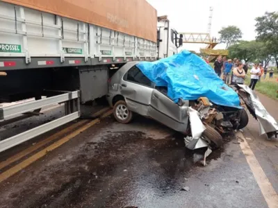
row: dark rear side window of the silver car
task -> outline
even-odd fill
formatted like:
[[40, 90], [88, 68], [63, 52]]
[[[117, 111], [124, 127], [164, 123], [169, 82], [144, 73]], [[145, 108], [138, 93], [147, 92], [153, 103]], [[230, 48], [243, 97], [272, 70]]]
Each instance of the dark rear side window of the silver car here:
[[130, 81], [132, 83], [138, 83], [140, 85], [146, 85], [147, 87], [152, 87], [152, 81], [145, 76], [138, 67], [133, 66], [124, 76], [124, 80]]

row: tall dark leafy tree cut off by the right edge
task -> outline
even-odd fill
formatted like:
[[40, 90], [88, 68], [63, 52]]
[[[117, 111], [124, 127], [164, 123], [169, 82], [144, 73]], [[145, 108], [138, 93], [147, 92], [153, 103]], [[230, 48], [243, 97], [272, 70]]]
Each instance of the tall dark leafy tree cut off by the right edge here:
[[268, 57], [274, 57], [278, 67], [278, 12], [265, 12], [256, 17], [256, 39], [265, 44]]

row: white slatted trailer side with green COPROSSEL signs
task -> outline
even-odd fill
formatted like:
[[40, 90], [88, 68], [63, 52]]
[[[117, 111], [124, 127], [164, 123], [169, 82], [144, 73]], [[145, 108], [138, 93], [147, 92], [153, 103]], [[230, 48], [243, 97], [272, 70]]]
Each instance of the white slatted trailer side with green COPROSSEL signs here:
[[[153, 29], [156, 31], [156, 26]], [[0, 1], [0, 40], [1, 70], [111, 64], [156, 58], [156, 42], [3, 1]], [[69, 59], [72, 57], [74, 59]], [[26, 65], [19, 65], [19, 60], [12, 65], [5, 64], [6, 58], [22, 58]], [[90, 58], [96, 60], [90, 62]]]

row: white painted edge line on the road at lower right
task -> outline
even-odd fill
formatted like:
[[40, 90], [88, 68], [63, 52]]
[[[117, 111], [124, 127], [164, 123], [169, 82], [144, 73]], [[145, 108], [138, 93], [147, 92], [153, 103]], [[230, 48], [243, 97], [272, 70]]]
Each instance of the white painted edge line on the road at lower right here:
[[249, 164], [255, 180], [261, 189], [261, 193], [263, 193], [263, 197], [265, 198], [268, 207], [278, 208], [278, 195], [268, 180], [268, 177], [266, 177], [265, 173], [263, 172], [263, 168], [261, 168], [245, 137], [241, 132], [237, 132], [236, 136], [243, 139], [243, 141], [240, 142], [240, 148], [245, 155], [247, 163]]

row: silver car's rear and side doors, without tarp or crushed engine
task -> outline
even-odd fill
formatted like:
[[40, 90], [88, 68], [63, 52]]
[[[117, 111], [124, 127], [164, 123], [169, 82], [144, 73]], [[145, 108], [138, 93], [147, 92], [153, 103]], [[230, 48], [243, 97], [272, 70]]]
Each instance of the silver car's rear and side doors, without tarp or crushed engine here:
[[174, 103], [167, 97], [167, 88], [156, 87], [136, 67], [137, 63], [125, 64], [110, 80], [107, 98], [114, 107], [115, 119], [120, 123], [129, 123], [135, 112], [179, 132], [186, 132], [189, 102]]

